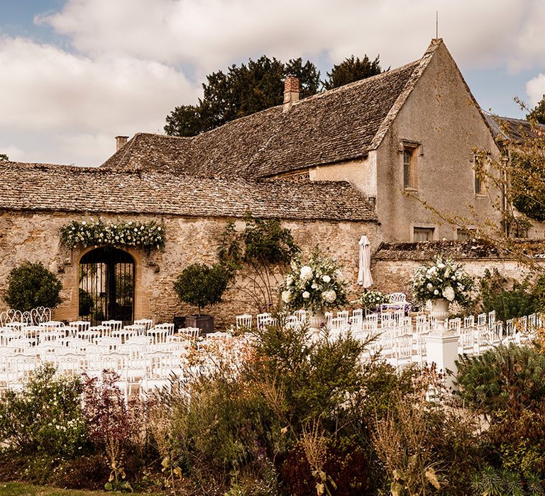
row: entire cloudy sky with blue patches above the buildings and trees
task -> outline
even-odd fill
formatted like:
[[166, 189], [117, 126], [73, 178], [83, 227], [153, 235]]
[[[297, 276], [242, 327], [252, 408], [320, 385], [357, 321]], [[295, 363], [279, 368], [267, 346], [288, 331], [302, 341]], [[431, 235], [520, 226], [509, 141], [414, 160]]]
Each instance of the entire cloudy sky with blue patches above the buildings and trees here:
[[345, 57], [418, 60], [436, 35], [485, 111], [545, 94], [545, 0], [0, 0], [0, 153], [98, 166], [163, 133], [206, 75], [260, 55], [322, 77]]

